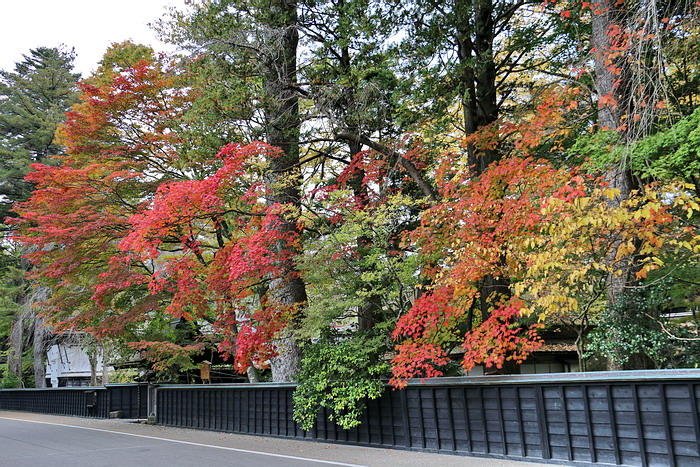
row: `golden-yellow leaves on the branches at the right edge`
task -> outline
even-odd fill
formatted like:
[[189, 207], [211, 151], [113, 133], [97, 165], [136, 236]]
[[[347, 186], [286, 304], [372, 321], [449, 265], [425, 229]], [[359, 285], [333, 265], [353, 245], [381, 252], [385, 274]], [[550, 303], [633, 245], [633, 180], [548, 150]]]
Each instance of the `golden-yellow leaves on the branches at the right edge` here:
[[606, 282], [621, 265], [638, 264], [644, 280], [665, 266], [667, 254], [700, 254], [697, 231], [684, 221], [700, 211], [692, 193], [649, 186], [618, 204], [611, 201], [619, 190], [598, 186], [577, 198], [548, 199], [537, 232], [510, 245], [509, 254], [526, 265], [514, 292], [540, 320], [573, 319], [584, 307], [603, 306]]

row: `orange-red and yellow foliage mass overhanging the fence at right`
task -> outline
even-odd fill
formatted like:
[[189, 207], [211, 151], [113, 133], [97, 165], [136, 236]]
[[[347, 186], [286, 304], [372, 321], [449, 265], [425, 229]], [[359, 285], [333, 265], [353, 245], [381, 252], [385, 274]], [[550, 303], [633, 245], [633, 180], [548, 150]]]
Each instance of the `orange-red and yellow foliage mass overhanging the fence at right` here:
[[[397, 323], [392, 384], [439, 375], [456, 346], [467, 370], [520, 362], [541, 345], [545, 320], [593, 312], [621, 264], [643, 256], [643, 279], [663, 264], [664, 252], [698, 254], [697, 231], [674, 227], [680, 213], [700, 206], [689, 193], [650, 186], [615, 207], [610, 200], [619, 193], [600, 180], [529, 158], [503, 160], [478, 179], [451, 184], [410, 236], [412, 247], [439, 260], [424, 271], [431, 289]], [[487, 277], [508, 279], [514, 298], [492, 297], [481, 321], [477, 284]], [[524, 325], [524, 315], [538, 322]], [[472, 329], [460, 335], [467, 323]]]

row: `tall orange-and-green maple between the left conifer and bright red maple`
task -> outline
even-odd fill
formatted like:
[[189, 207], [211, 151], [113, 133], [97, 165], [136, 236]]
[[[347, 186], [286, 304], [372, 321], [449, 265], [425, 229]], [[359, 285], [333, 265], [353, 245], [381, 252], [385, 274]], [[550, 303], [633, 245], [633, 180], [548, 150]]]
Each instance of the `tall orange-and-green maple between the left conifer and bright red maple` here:
[[55, 291], [46, 306], [58, 330], [134, 340], [163, 307], [145, 286], [154, 265], [132, 262], [117, 244], [159, 183], [190, 173], [174, 130], [191, 91], [167, 64], [145, 61], [81, 89], [59, 130], [66, 154], [27, 177], [37, 189], [15, 205], [16, 239], [34, 247], [32, 276]]

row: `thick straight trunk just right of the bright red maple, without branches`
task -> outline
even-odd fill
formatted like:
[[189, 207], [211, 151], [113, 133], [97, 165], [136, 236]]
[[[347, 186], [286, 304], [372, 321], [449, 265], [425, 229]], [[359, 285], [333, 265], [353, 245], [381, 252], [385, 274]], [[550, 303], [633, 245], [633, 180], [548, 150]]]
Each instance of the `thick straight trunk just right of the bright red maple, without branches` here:
[[[278, 227], [280, 233], [300, 233], [297, 226], [300, 203], [299, 169], [299, 100], [296, 86], [297, 31], [296, 0], [272, 0], [266, 16], [270, 27], [268, 51], [265, 62], [265, 117], [268, 143], [283, 151], [281, 157], [270, 160], [267, 184], [270, 190], [268, 203], [292, 206], [295, 212], [287, 212]], [[279, 245], [289, 249], [289, 245]], [[297, 316], [306, 303], [306, 286], [299, 277], [294, 255], [281, 265], [284, 277], [271, 282], [268, 291], [273, 303], [293, 307]], [[294, 339], [296, 317], [289, 327], [273, 343], [278, 356], [272, 359], [273, 381], [292, 381], [298, 373], [301, 349]]]

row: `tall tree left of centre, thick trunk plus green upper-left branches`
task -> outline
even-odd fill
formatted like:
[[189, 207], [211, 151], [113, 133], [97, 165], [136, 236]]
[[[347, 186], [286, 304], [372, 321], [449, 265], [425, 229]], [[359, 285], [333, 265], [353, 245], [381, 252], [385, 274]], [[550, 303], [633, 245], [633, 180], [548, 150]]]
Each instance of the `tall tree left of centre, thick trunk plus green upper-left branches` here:
[[[270, 207], [290, 208], [276, 224], [279, 235], [299, 235], [301, 121], [297, 91], [297, 3], [226, 1], [196, 6], [189, 16], [179, 17], [183, 21], [174, 24], [171, 34], [186, 37], [194, 46], [211, 45], [209, 51], [213, 54], [223, 54], [224, 62], [234, 62], [234, 68], [240, 71], [232, 80], [238, 81], [242, 95], [259, 103], [253, 111], [257, 114], [251, 115], [255, 122], [251, 125], [252, 131], [282, 151], [279, 157], [269, 161], [269, 172], [265, 176], [265, 183], [270, 187], [266, 192], [267, 203]], [[215, 25], [221, 27], [215, 28]], [[279, 248], [283, 247], [279, 244]], [[270, 282], [266, 296], [271, 306], [287, 307], [301, 315], [307, 296], [295, 265], [294, 257], [299, 252], [292, 255], [279, 252], [280, 258], [287, 258], [280, 265], [287, 274]], [[280, 330], [276, 342], [278, 352], [272, 357], [273, 379], [289, 381], [298, 372], [301, 357], [292, 329]]]

